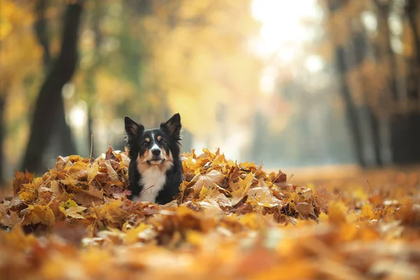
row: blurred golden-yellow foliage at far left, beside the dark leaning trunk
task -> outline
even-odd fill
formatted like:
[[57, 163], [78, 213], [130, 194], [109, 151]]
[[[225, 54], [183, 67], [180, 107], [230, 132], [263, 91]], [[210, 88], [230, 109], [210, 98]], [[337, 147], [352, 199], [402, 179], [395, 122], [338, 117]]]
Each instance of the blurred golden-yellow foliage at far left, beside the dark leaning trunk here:
[[[6, 159], [5, 134], [8, 128], [7, 108], [19, 112], [10, 97], [20, 95], [25, 78], [36, 71], [36, 64], [41, 52], [37, 48], [34, 37], [29, 34], [34, 22], [31, 14], [31, 1], [0, 0], [0, 183], [2, 183], [3, 165]], [[16, 48], [20, 45], [20, 48]], [[10, 102], [10, 103], [9, 103]], [[8, 106], [6, 106], [6, 104]], [[12, 110], [12, 111], [13, 111]]]

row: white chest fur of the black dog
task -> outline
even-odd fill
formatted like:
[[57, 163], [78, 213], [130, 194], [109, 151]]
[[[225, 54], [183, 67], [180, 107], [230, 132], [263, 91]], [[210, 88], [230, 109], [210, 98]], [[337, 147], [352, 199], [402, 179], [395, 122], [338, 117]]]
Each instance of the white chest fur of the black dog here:
[[139, 197], [135, 200], [139, 202], [153, 202], [155, 203], [156, 197], [160, 190], [162, 190], [166, 181], [165, 170], [160, 169], [158, 166], [149, 167], [141, 172], [141, 179], [139, 183], [143, 185], [143, 190]]

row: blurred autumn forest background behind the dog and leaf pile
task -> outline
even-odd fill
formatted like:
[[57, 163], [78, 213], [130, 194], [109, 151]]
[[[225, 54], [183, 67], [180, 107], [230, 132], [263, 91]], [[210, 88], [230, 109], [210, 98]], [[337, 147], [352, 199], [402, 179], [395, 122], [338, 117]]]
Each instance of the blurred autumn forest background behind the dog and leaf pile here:
[[0, 181], [176, 112], [185, 151], [267, 168], [419, 162], [418, 6], [0, 0]]

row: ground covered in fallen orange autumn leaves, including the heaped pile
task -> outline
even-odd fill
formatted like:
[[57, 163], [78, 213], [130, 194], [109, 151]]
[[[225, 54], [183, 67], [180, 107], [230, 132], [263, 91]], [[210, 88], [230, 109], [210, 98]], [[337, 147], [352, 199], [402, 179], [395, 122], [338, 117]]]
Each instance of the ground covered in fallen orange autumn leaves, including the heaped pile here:
[[128, 162], [109, 148], [17, 173], [0, 204], [0, 279], [420, 279], [416, 174], [293, 186], [204, 149], [159, 206], [127, 200]]

